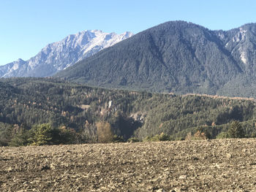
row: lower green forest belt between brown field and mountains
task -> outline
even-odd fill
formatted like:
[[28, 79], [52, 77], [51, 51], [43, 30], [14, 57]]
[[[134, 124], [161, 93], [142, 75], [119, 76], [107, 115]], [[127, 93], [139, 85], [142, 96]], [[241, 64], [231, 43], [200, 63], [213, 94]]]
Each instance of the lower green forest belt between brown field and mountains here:
[[0, 80], [2, 146], [215, 139], [227, 137], [235, 121], [243, 137], [255, 137], [254, 99], [93, 88], [53, 78]]

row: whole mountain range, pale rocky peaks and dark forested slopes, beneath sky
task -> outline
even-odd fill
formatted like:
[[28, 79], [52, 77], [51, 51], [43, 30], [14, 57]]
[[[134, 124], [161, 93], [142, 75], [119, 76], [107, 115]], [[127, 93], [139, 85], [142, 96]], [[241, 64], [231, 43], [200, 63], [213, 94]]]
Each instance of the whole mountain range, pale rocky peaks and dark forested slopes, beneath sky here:
[[82, 31], [0, 77], [60, 77], [105, 88], [255, 97], [256, 24], [212, 31], [170, 21], [138, 34]]

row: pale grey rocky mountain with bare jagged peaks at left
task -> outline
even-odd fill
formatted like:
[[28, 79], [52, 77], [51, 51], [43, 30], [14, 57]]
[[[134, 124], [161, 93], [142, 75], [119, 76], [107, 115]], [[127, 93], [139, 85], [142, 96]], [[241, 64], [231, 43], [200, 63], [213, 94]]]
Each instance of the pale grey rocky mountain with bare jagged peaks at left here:
[[115, 34], [98, 30], [72, 34], [47, 45], [28, 61], [18, 59], [0, 66], [0, 77], [48, 77], [131, 36], [130, 32]]

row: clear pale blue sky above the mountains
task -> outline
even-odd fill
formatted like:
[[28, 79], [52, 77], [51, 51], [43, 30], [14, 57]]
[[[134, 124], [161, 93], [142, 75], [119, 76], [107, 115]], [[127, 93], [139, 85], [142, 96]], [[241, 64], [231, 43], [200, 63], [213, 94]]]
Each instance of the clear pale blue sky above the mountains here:
[[0, 65], [86, 29], [138, 33], [169, 20], [213, 30], [256, 23], [255, 0], [1, 0]]

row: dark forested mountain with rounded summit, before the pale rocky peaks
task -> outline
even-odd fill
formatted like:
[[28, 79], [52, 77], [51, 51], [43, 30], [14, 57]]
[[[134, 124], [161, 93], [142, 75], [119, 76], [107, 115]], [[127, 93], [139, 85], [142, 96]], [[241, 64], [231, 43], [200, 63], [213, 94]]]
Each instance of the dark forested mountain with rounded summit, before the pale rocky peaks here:
[[[56, 74], [74, 82], [157, 92], [256, 96], [256, 24], [211, 31], [170, 21]], [[236, 85], [236, 87], [232, 86]]]

